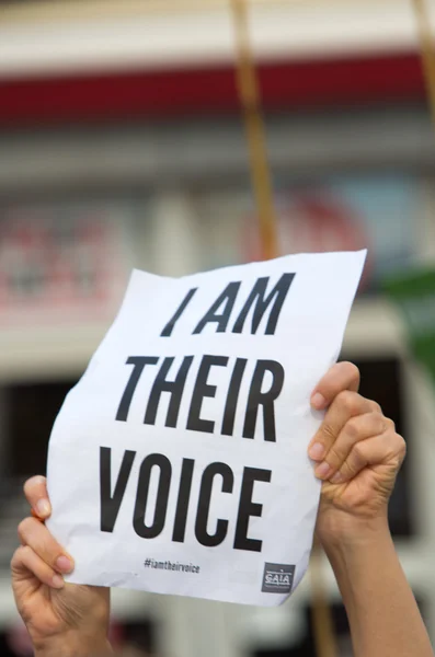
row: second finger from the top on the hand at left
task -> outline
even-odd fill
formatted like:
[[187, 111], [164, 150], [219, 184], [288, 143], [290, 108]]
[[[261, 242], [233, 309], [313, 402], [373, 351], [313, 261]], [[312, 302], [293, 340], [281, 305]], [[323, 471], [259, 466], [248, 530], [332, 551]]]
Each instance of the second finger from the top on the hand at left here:
[[71, 573], [73, 561], [53, 538], [45, 525], [35, 518], [25, 518], [19, 526], [19, 537], [23, 545], [32, 550], [58, 573]]

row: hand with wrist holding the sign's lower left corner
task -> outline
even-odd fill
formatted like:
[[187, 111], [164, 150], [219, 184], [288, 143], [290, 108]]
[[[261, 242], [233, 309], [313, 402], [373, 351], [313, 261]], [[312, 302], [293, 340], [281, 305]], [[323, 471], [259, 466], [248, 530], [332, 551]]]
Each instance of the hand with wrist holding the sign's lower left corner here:
[[64, 581], [73, 561], [44, 525], [51, 514], [45, 477], [28, 480], [24, 493], [34, 517], [19, 526], [12, 587], [36, 657], [107, 654], [110, 589]]

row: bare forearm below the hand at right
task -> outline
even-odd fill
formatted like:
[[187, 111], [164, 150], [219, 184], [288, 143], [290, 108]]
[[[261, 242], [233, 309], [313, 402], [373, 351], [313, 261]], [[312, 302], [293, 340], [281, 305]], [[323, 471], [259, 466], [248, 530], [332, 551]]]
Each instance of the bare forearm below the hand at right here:
[[327, 546], [347, 611], [355, 657], [434, 657], [387, 521]]

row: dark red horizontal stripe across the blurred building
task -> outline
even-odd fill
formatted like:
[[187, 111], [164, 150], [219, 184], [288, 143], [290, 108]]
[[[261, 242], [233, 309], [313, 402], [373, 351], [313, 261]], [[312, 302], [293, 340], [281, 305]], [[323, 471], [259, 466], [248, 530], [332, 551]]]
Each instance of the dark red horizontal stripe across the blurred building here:
[[[420, 58], [396, 54], [263, 64], [264, 106], [291, 110], [424, 97]], [[233, 113], [231, 67], [0, 80], [0, 125], [23, 126]]]

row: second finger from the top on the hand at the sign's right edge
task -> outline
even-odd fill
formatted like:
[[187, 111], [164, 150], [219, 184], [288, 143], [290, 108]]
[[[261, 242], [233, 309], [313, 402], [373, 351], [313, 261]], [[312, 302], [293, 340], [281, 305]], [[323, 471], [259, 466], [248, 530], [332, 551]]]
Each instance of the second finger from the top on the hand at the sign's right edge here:
[[[323, 461], [351, 417], [365, 415], [375, 408], [374, 402], [366, 400], [357, 392], [350, 390], [340, 392], [328, 410], [320, 429], [311, 440], [308, 451], [310, 458], [313, 461]], [[327, 466], [323, 465], [324, 471], [325, 469]]]

